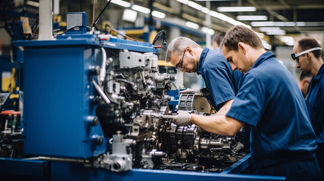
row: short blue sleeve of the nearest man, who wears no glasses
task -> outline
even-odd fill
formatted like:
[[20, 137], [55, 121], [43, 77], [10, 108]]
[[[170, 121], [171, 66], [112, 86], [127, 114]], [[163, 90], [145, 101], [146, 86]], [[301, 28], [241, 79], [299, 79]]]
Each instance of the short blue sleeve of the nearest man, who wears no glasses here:
[[245, 75], [240, 91], [226, 116], [256, 126], [268, 104], [267, 97], [269, 93], [264, 83], [256, 77]]

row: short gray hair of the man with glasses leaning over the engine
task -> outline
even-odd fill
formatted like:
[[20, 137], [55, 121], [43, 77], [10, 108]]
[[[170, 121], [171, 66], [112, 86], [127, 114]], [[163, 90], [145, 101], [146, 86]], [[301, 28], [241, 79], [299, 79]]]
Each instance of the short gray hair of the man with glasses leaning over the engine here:
[[200, 48], [196, 42], [190, 40], [189, 38], [178, 37], [172, 40], [168, 46], [168, 49], [166, 50], [165, 61], [170, 62], [170, 56], [172, 53], [175, 53], [176, 55], [182, 54], [187, 46], [190, 46], [191, 48]]

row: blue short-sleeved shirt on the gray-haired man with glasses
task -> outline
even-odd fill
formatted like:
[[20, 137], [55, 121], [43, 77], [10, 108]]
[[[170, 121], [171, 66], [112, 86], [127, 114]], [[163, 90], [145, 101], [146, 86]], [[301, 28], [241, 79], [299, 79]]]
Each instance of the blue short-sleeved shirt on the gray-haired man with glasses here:
[[198, 74], [202, 74], [211, 95], [208, 100], [218, 111], [222, 103], [234, 99], [244, 74], [233, 71], [219, 49], [204, 48], [199, 59]]

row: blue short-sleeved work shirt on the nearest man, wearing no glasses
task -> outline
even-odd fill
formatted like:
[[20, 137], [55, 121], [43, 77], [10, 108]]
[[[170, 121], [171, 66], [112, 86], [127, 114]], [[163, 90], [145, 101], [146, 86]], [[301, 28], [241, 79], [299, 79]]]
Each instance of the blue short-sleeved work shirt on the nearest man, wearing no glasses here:
[[257, 164], [314, 156], [315, 134], [305, 100], [292, 74], [271, 51], [245, 73], [226, 116], [251, 125], [250, 150]]

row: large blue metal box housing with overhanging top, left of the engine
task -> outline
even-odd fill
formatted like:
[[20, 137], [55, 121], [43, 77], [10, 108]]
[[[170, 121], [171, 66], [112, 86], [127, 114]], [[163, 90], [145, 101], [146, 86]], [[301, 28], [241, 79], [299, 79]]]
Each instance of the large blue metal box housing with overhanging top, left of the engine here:
[[[73, 38], [72, 38], [73, 37]], [[100, 46], [157, 52], [150, 43], [96, 35], [59, 36], [57, 40], [16, 41], [24, 47], [24, 150], [27, 154], [89, 158], [106, 151], [100, 124], [88, 124], [95, 115], [93, 84], [95, 51]]]

